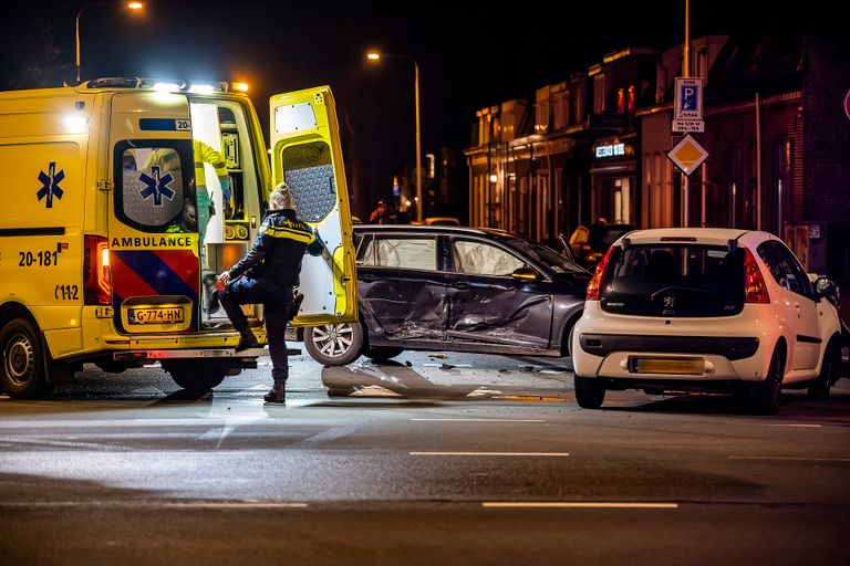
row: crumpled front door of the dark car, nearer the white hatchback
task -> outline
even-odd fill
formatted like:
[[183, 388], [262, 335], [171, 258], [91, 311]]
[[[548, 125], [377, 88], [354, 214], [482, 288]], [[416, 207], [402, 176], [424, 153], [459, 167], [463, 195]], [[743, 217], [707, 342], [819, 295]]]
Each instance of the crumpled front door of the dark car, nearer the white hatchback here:
[[549, 347], [552, 295], [542, 274], [506, 247], [454, 238], [447, 334], [454, 343], [535, 353]]

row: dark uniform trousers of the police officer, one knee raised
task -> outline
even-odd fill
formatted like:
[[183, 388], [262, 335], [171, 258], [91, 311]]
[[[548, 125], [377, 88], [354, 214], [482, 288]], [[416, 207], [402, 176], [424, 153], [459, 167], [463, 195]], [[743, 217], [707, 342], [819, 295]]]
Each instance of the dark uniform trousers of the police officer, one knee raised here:
[[276, 381], [286, 381], [289, 377], [287, 357], [287, 323], [289, 307], [292, 304], [292, 287], [279, 286], [262, 279], [242, 276], [228, 283], [219, 293], [221, 306], [240, 334], [250, 332], [248, 317], [239, 305], [262, 303], [266, 307], [266, 334], [269, 337], [271, 357], [271, 377]]

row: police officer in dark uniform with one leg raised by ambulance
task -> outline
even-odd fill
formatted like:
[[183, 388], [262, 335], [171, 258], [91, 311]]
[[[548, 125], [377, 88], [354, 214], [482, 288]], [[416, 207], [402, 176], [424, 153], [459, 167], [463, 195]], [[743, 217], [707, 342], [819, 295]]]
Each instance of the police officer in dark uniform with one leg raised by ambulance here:
[[294, 199], [284, 182], [272, 191], [269, 208], [251, 249], [236, 265], [218, 276], [226, 285], [219, 300], [241, 336], [237, 352], [259, 345], [239, 305], [262, 303], [266, 306], [266, 333], [269, 336], [274, 386], [265, 399], [282, 405], [286, 402], [284, 385], [289, 377], [284, 334], [292, 304], [292, 287], [298, 285], [304, 252], [319, 255], [323, 244], [312, 228], [296, 216]]

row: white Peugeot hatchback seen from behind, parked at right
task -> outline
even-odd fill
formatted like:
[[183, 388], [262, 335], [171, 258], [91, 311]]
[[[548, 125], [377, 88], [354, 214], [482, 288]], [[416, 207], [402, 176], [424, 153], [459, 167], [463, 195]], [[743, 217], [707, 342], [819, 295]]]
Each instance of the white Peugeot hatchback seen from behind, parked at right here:
[[812, 282], [781, 240], [713, 228], [639, 230], [588, 285], [571, 352], [576, 399], [608, 389], [732, 392], [757, 413], [782, 387], [823, 399], [840, 377], [836, 285]]

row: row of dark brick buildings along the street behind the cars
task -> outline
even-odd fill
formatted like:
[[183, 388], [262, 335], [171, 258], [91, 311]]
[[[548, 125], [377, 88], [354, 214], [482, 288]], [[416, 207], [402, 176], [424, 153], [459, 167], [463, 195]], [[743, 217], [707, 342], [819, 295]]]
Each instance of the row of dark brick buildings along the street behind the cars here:
[[761, 229], [847, 286], [850, 57], [838, 38], [774, 27], [697, 38], [691, 53], [709, 157], [687, 182], [666, 156], [682, 46], [625, 49], [538, 90], [533, 106], [477, 113], [470, 223], [550, 243], [599, 218]]

